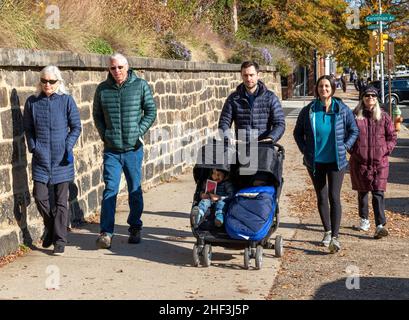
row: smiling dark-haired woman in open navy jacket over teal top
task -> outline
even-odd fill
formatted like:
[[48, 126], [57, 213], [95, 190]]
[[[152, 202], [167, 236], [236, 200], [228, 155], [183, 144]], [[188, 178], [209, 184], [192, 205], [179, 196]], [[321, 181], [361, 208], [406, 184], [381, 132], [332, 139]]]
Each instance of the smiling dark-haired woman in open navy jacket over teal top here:
[[330, 76], [320, 77], [315, 86], [316, 99], [301, 110], [294, 128], [295, 141], [317, 194], [325, 231], [322, 244], [331, 253], [341, 249], [338, 232], [341, 187], [348, 164], [346, 152], [358, 137], [352, 111], [341, 99], [333, 97], [334, 92], [334, 80]]

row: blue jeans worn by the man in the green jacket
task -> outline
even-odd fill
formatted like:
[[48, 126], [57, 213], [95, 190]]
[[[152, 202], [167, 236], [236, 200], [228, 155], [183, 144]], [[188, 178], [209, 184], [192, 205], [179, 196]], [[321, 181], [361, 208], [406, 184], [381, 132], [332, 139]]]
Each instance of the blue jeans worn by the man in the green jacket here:
[[102, 195], [101, 232], [114, 233], [116, 198], [122, 170], [128, 186], [129, 232], [142, 228], [143, 197], [141, 189], [143, 146], [127, 152], [104, 152], [104, 183]]

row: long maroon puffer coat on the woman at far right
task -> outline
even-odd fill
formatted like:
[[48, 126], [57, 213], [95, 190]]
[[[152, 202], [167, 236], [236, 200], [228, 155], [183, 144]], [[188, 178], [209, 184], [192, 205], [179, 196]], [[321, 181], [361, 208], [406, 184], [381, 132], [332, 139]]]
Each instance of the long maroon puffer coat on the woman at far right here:
[[356, 119], [359, 136], [352, 148], [349, 167], [352, 189], [386, 191], [389, 175], [388, 156], [396, 145], [396, 132], [387, 113], [375, 121], [364, 111], [364, 119]]

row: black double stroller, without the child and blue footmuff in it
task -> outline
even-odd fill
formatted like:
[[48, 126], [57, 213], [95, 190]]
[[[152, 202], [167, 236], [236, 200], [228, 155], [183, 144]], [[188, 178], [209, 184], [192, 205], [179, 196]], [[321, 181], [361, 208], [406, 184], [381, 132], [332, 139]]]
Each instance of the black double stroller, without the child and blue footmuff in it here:
[[[210, 148], [209, 148], [210, 146]], [[213, 150], [213, 152], [207, 152]], [[240, 151], [240, 150], [245, 151]], [[239, 151], [237, 151], [239, 150]], [[209, 210], [205, 215], [204, 220], [197, 227], [191, 221], [191, 228], [196, 244], [193, 246], [193, 264], [199, 266], [202, 264], [209, 267], [212, 258], [212, 246], [221, 246], [228, 249], [244, 249], [244, 267], [250, 267], [251, 259], [255, 259], [256, 269], [261, 269], [263, 248], [275, 249], [275, 255], [281, 257], [283, 255], [283, 239], [277, 235], [275, 242], [270, 242], [271, 235], [277, 230], [280, 214], [278, 201], [283, 185], [282, 171], [284, 160], [284, 148], [278, 144], [259, 143], [256, 152], [258, 152], [258, 161], [256, 164], [240, 163], [239, 152], [248, 152], [249, 148], [236, 148], [229, 146], [226, 142], [213, 140], [208, 142], [199, 151], [198, 163], [193, 169], [193, 176], [196, 182], [196, 191], [193, 196], [193, 206], [196, 206], [200, 201], [200, 191], [203, 181], [209, 177], [210, 170], [219, 169], [230, 173], [231, 181], [237, 188], [249, 186], [254, 176], [254, 172], [263, 173], [266, 177], [266, 185], [275, 189], [274, 196], [274, 212], [271, 224], [269, 225], [266, 235], [259, 240], [250, 239], [234, 239], [227, 232], [225, 224], [218, 228], [214, 224], [214, 210]], [[223, 156], [221, 156], [223, 155]], [[216, 156], [219, 160], [215, 161]], [[203, 161], [206, 159], [206, 161]], [[255, 167], [254, 167], [255, 166]], [[251, 175], [249, 175], [251, 174]], [[229, 205], [229, 204], [228, 204]]]

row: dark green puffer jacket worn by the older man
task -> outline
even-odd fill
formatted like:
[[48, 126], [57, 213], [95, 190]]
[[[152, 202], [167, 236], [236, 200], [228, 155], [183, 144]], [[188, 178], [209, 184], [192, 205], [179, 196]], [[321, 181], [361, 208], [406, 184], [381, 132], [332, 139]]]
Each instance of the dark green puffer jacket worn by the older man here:
[[125, 152], [139, 148], [142, 136], [156, 119], [148, 83], [132, 70], [122, 86], [108, 74], [94, 96], [93, 117], [106, 149]]

